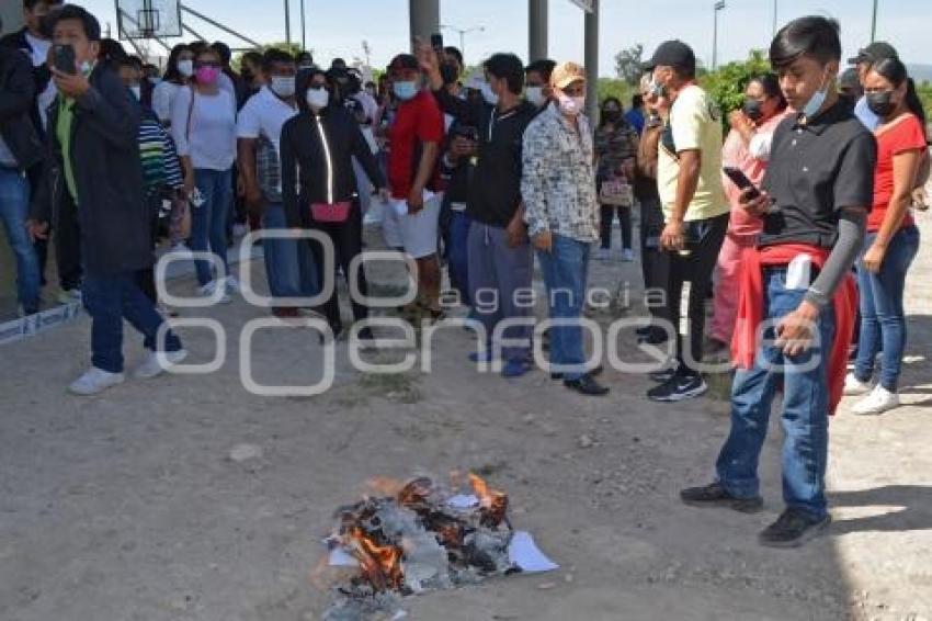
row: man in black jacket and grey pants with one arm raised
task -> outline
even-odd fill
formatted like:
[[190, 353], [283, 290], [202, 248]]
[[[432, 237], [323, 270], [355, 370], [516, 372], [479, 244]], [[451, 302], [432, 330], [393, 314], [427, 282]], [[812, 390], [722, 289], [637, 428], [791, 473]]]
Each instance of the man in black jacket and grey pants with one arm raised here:
[[[468, 283], [475, 316], [487, 330], [488, 342], [499, 323], [530, 316], [534, 259], [524, 226], [521, 201], [522, 136], [536, 109], [524, 101], [524, 66], [513, 54], [495, 54], [486, 60], [485, 101], [467, 103], [443, 88], [436, 53], [423, 46], [421, 61], [441, 109], [457, 121], [478, 128], [478, 162], [469, 184], [466, 215], [473, 221], [468, 241]], [[531, 325], [504, 330], [502, 339], [524, 341], [502, 348], [502, 375], [518, 377], [531, 369]], [[491, 360], [487, 349], [475, 361]]]

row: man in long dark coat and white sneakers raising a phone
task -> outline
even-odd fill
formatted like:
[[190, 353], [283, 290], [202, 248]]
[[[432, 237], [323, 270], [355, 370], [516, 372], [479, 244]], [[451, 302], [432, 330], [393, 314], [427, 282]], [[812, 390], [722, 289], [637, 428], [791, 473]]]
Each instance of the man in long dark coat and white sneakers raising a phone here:
[[[139, 106], [118, 77], [94, 66], [100, 23], [84, 9], [67, 5], [53, 22], [55, 45], [71, 46], [75, 71], [53, 67], [58, 97], [49, 110], [50, 196], [36, 201], [30, 230], [47, 235], [80, 229], [83, 302], [90, 314], [92, 366], [69, 386], [79, 395], [123, 382], [123, 319], [146, 337], [149, 357], [137, 377], [155, 377], [183, 360], [181, 341], [168, 330], [136, 274], [152, 263], [151, 214], [145, 207], [139, 161]], [[66, 218], [64, 214], [76, 214]], [[157, 354], [157, 351], [159, 354]]]

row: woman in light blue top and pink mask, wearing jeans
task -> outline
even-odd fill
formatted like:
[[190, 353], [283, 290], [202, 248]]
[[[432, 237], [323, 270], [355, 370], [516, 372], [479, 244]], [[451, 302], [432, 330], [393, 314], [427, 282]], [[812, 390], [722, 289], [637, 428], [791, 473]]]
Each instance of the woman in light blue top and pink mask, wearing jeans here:
[[[184, 169], [184, 193], [191, 202], [191, 249], [213, 252], [226, 278], [212, 273], [208, 261], [194, 267], [198, 293], [218, 295], [238, 291], [227, 261], [227, 218], [232, 200], [232, 166], [236, 161], [236, 99], [218, 84], [220, 56], [203, 47], [194, 59], [194, 79], [178, 91], [172, 103], [171, 133]], [[215, 294], [217, 287], [224, 291]]]

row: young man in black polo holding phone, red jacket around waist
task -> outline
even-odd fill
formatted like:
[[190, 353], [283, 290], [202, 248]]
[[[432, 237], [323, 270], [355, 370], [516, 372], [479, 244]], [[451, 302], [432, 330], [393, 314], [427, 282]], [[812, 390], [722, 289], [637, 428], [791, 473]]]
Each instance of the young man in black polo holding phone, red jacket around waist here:
[[831, 521], [825, 494], [828, 417], [844, 386], [857, 304], [851, 268], [873, 202], [877, 146], [836, 90], [837, 22], [791, 22], [773, 39], [770, 60], [798, 114], [774, 132], [763, 191], [757, 197], [754, 190], [743, 191], [743, 208], [764, 226], [757, 247], [742, 257], [731, 430], [716, 482], [684, 489], [681, 497], [698, 507], [761, 509], [758, 461], [771, 404], [782, 389], [786, 509], [759, 541], [793, 547]]

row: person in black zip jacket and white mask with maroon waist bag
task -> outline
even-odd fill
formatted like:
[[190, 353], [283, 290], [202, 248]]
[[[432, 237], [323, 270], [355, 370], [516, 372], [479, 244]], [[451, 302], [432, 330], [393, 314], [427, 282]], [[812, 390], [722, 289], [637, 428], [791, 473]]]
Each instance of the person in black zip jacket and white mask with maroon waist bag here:
[[[359, 293], [365, 296], [368, 287], [362, 263], [355, 266], [355, 274], [350, 269], [353, 259], [362, 252], [363, 242], [363, 214], [352, 158], [359, 160], [384, 197], [388, 196], [388, 191], [359, 123], [334, 98], [338, 88], [336, 81], [328, 83], [327, 75], [319, 69], [298, 76], [295, 94], [300, 112], [282, 127], [282, 200], [288, 226], [325, 233], [348, 283], [355, 278]], [[318, 282], [326, 289], [327, 281], [333, 276], [333, 268], [325, 264], [319, 244], [311, 242], [311, 248]], [[330, 271], [325, 273], [328, 267]], [[343, 324], [336, 283], [329, 292], [321, 312], [334, 337], [339, 338]], [[368, 317], [365, 305], [355, 298], [351, 302], [356, 321]], [[372, 331], [364, 327], [359, 337], [372, 339]]]

